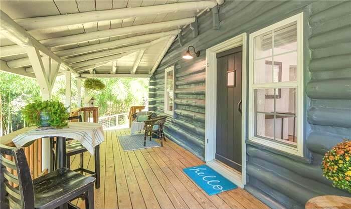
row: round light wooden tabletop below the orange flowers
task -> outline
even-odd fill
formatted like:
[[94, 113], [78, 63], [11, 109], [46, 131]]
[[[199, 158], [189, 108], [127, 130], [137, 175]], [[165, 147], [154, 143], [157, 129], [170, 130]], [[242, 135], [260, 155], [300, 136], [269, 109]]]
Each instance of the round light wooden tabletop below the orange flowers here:
[[351, 197], [326, 195], [311, 198], [305, 204], [305, 209], [349, 209], [351, 208]]

